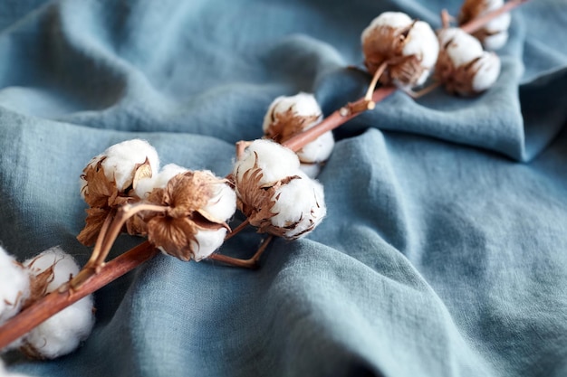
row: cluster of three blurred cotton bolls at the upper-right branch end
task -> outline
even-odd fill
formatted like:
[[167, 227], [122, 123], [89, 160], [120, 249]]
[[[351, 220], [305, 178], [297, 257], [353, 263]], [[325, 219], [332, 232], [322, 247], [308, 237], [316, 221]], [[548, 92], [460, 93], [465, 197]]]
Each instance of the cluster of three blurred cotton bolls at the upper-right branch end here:
[[[504, 0], [466, 0], [461, 24], [504, 5]], [[380, 82], [411, 90], [422, 85], [431, 72], [445, 89], [462, 96], [483, 92], [500, 74], [494, 52], [507, 41], [510, 14], [502, 14], [474, 35], [444, 27], [436, 33], [425, 22], [408, 14], [386, 12], [376, 17], [361, 34], [365, 65], [374, 74], [385, 65]], [[479, 39], [477, 39], [479, 38]]]

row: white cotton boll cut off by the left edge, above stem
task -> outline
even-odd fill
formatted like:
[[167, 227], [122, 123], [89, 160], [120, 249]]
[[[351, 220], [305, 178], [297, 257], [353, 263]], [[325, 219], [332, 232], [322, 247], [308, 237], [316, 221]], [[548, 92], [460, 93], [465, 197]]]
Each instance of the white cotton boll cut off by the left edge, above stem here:
[[29, 274], [0, 246], [0, 324], [15, 316], [29, 296]]

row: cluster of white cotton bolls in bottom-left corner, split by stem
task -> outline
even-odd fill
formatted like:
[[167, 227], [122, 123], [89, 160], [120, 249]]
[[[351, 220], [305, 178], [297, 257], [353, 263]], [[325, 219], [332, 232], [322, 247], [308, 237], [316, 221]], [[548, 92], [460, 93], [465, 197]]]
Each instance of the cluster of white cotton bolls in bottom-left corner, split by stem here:
[[[0, 247], [0, 325], [78, 272], [77, 262], [58, 247], [24, 263]], [[17, 348], [34, 358], [53, 359], [75, 350], [91, 334], [93, 325], [93, 300], [89, 295], [36, 326], [6, 350]]]

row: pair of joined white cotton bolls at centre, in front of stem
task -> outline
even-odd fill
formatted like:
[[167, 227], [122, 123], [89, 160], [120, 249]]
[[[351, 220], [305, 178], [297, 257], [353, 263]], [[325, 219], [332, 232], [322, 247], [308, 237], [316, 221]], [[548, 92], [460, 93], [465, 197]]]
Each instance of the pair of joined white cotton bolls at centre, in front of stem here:
[[298, 239], [327, 210], [322, 184], [303, 173], [291, 149], [259, 139], [237, 156], [233, 170], [238, 208], [260, 232]]

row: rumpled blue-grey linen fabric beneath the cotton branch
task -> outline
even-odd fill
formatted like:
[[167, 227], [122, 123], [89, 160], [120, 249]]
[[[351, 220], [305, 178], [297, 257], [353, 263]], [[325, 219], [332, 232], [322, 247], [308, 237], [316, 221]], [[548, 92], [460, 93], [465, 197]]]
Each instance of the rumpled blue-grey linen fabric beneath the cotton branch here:
[[[231, 170], [276, 96], [359, 98], [360, 33], [384, 11], [439, 27], [459, 1], [4, 1], [0, 240], [76, 239], [78, 177], [142, 137], [162, 163]], [[328, 218], [261, 269], [159, 255], [95, 294], [97, 325], [34, 376], [567, 375], [567, 6], [513, 12], [495, 87], [397, 92], [335, 132]], [[223, 247], [253, 253], [245, 231]], [[122, 236], [111, 257], [139, 243]]]

